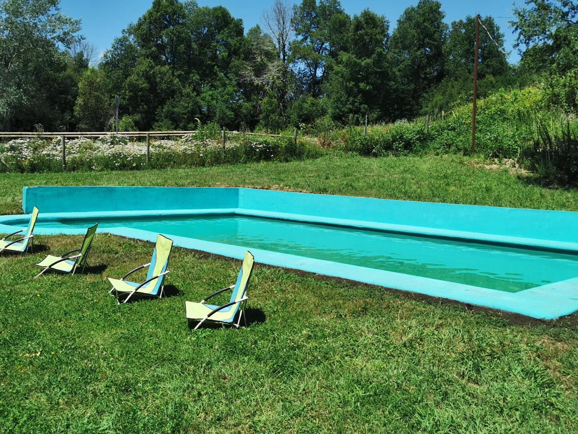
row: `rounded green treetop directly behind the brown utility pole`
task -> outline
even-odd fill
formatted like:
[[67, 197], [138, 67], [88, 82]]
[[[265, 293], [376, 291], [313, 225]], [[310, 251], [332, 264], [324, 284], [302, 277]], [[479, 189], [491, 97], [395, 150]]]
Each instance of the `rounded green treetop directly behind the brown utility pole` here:
[[[472, 76], [474, 55], [476, 51], [476, 20], [477, 17], [467, 16], [465, 20], [451, 23], [451, 30], [447, 36], [447, 75], [452, 78]], [[508, 69], [506, 54], [503, 52], [504, 35], [492, 17], [481, 19], [488, 32], [481, 27], [479, 48], [478, 77], [499, 76]]]

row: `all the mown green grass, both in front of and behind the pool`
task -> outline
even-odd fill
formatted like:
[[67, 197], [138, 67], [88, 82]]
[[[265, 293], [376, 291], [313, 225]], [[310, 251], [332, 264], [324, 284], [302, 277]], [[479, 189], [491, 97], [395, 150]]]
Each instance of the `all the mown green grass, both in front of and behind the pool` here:
[[[578, 209], [576, 192], [458, 157], [3, 174], [0, 203], [21, 212], [22, 186], [76, 184], [242, 185]], [[117, 306], [106, 277], [149, 262], [152, 245], [101, 233], [90, 273], [32, 278], [47, 253], [81, 239], [39, 236], [34, 254], [0, 258], [0, 432], [576, 431], [576, 329], [512, 326], [497, 315], [257, 266], [249, 328], [192, 332], [184, 301], [233, 283], [240, 262], [175, 248], [174, 295]]]

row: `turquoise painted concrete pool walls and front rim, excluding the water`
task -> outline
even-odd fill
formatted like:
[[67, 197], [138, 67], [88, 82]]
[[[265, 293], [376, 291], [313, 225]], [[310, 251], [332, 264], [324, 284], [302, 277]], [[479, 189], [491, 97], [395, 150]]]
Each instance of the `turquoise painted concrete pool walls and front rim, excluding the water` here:
[[[25, 187], [23, 209], [36, 205], [40, 219], [123, 215], [239, 214], [271, 216], [304, 222], [386, 229], [466, 240], [506, 242], [521, 246], [578, 252], [578, 213], [474, 207], [210, 187]], [[25, 226], [28, 216], [0, 216], [0, 232]], [[154, 241], [156, 233], [129, 227], [107, 230], [120, 236]], [[37, 233], [80, 233], [38, 228]], [[175, 245], [242, 259], [243, 246], [172, 237]], [[578, 311], [578, 276], [516, 293], [479, 288], [425, 277], [368, 269], [251, 249], [257, 262], [357, 280], [458, 300], [533, 318], [555, 319]]]

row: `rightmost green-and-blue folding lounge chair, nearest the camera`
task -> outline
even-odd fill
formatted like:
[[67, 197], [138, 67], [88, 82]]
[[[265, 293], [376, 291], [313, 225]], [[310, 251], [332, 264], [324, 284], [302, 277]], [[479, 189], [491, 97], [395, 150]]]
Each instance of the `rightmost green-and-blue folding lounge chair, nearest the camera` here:
[[[247, 288], [249, 287], [254, 260], [255, 258], [253, 258], [253, 255], [251, 255], [251, 252], [245, 253], [243, 265], [239, 270], [239, 275], [237, 276], [237, 282], [235, 285], [227, 286], [227, 288], [213, 292], [210, 296], [206, 297], [204, 300], [201, 300], [200, 303], [185, 301], [187, 318], [189, 321], [198, 321], [195, 330], [197, 330], [205, 321], [221, 323], [223, 325], [234, 325], [236, 328], [239, 328], [241, 317], [243, 317], [245, 326], [247, 326], [247, 319], [244, 315], [244, 307], [247, 301]], [[211, 297], [214, 297], [217, 294], [230, 289], [232, 289], [233, 292], [231, 294], [231, 300], [229, 300], [229, 303], [223, 304], [223, 306], [205, 304], [206, 300], [209, 300]], [[234, 320], [237, 312], [239, 312], [239, 318], [235, 323]]]

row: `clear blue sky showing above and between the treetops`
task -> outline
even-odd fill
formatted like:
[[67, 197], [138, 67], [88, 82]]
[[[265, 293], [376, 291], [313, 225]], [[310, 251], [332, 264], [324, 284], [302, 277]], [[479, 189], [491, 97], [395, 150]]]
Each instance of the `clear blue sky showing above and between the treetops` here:
[[[502, 32], [505, 34], [506, 52], [510, 52], [510, 62], [517, 62], [520, 57], [517, 50], [513, 49], [515, 36], [508, 27], [507, 21], [512, 17], [512, 3], [508, 0], [486, 0], [474, 4], [467, 0], [441, 0], [442, 9], [446, 12], [446, 21], [459, 20], [466, 15], [482, 16], [491, 15], [495, 18]], [[129, 23], [134, 23], [147, 9], [152, 0], [61, 0], [62, 11], [74, 18], [82, 19], [82, 34], [94, 44], [99, 53], [104, 52], [112, 44], [114, 38], [120, 36], [120, 32]], [[255, 24], [261, 24], [261, 14], [264, 9], [271, 6], [272, 0], [198, 0], [201, 6], [223, 5], [231, 14], [243, 20], [245, 31]], [[345, 12], [353, 16], [363, 9], [369, 8], [379, 14], [383, 14], [390, 20], [390, 31], [395, 27], [399, 15], [407, 6], [415, 5], [417, 0], [390, 1], [390, 0], [342, 0], [341, 4]], [[482, 29], [483, 31], [483, 29]]]

